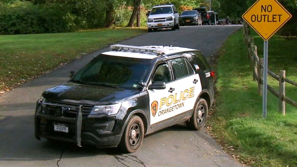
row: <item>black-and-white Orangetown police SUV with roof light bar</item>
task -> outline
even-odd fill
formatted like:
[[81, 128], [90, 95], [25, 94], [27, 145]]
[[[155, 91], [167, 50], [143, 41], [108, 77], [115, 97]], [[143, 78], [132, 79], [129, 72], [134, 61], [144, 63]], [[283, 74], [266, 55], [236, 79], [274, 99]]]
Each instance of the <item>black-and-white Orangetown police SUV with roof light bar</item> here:
[[111, 45], [70, 80], [42, 93], [35, 137], [135, 152], [143, 136], [180, 122], [200, 130], [214, 72], [195, 49]]

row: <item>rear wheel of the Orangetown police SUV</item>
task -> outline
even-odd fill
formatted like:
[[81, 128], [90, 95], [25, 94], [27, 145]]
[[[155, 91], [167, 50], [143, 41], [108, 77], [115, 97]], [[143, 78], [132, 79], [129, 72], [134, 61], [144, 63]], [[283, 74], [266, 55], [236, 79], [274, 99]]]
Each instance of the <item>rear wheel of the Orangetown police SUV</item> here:
[[193, 115], [186, 121], [187, 127], [192, 130], [201, 130], [205, 126], [208, 115], [207, 102], [203, 98], [198, 98], [195, 104]]

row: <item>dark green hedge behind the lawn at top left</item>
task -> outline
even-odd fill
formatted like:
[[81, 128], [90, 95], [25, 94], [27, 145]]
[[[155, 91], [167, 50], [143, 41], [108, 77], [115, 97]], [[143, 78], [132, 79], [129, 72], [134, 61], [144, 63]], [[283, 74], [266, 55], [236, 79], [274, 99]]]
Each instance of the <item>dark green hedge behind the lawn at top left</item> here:
[[75, 16], [58, 5], [6, 8], [0, 14], [0, 34], [37, 34], [74, 31]]

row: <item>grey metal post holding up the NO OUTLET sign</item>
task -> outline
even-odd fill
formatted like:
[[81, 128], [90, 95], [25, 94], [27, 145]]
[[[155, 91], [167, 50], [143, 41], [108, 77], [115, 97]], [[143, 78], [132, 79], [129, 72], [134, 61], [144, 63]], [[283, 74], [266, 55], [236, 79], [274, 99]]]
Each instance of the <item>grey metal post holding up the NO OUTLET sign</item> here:
[[264, 41], [263, 60], [263, 118], [267, 116], [267, 69], [268, 69], [268, 40]]

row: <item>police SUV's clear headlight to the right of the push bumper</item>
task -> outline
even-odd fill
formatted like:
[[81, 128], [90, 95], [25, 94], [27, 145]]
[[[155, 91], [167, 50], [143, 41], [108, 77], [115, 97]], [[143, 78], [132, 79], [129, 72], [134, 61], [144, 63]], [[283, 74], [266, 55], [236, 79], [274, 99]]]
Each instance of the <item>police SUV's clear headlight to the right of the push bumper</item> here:
[[108, 105], [108, 106], [94, 106], [90, 114], [108, 114], [113, 115], [119, 112], [122, 103]]

